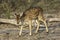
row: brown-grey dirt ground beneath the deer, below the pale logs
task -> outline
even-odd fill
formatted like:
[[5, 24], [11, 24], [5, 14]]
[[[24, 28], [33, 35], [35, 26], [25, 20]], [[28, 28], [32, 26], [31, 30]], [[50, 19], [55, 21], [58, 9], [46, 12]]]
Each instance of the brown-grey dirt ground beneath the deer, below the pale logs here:
[[[5, 30], [6, 28], [12, 28], [12, 30]], [[60, 40], [60, 22], [49, 23], [49, 33], [46, 33], [45, 27], [40, 27], [37, 34], [33, 29], [31, 36], [28, 30], [23, 30], [22, 35], [19, 36], [19, 30], [13, 30], [13, 28], [18, 27], [10, 24], [0, 24], [0, 40]]]

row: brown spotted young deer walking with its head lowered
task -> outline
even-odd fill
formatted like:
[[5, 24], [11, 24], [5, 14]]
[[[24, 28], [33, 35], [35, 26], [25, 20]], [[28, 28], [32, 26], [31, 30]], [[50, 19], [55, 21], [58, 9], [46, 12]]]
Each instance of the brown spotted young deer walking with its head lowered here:
[[[32, 27], [32, 20], [37, 20], [37, 29], [36, 33], [38, 32], [40, 21], [42, 21], [46, 26], [46, 32], [48, 32], [48, 27], [45, 18], [43, 17], [43, 9], [40, 7], [32, 7], [27, 9], [25, 12], [23, 12], [23, 15], [20, 17], [16, 14], [17, 23], [19, 24], [19, 20], [28, 21], [29, 23], [29, 29], [30, 29], [30, 35], [31, 35], [31, 27]], [[22, 33], [23, 26], [20, 29], [19, 35]]]

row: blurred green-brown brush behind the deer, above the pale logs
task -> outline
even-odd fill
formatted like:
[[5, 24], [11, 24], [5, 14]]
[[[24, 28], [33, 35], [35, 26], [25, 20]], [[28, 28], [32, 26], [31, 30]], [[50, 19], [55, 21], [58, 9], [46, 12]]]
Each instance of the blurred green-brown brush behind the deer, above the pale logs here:
[[41, 7], [46, 17], [60, 17], [60, 0], [0, 0], [0, 18], [14, 18], [30, 7]]

